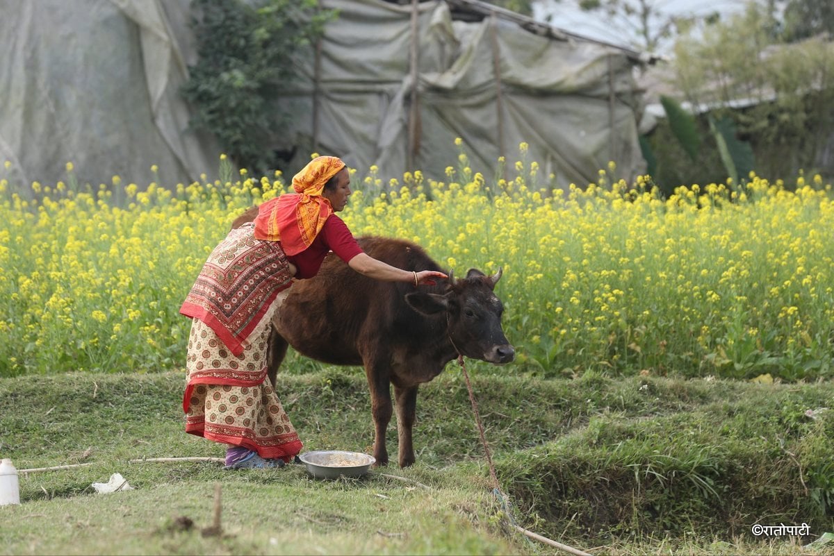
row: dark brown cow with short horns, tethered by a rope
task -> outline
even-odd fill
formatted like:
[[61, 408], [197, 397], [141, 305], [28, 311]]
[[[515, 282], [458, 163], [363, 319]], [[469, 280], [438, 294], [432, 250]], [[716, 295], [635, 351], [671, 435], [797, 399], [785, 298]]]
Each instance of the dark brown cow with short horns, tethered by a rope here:
[[[382, 237], [359, 238], [374, 259], [407, 271], [437, 270], [419, 246]], [[275, 380], [287, 346], [332, 365], [364, 365], [374, 417], [374, 458], [388, 463], [385, 429], [396, 396], [399, 465], [414, 463], [411, 430], [417, 388], [440, 375], [458, 354], [508, 363], [515, 350], [501, 330], [504, 306], [493, 290], [501, 277], [470, 270], [464, 280], [420, 288], [360, 275], [330, 253], [319, 274], [288, 290], [273, 320], [269, 378]]]

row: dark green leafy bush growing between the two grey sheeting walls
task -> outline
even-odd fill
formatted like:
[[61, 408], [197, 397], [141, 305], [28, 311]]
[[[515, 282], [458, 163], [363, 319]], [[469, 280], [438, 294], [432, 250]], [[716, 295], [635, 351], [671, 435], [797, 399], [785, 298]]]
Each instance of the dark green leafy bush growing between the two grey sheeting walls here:
[[238, 166], [274, 167], [270, 143], [286, 127], [277, 92], [311, 63], [311, 45], [335, 12], [316, 0], [193, 0], [198, 62], [189, 67], [184, 97], [195, 129], [214, 133]]

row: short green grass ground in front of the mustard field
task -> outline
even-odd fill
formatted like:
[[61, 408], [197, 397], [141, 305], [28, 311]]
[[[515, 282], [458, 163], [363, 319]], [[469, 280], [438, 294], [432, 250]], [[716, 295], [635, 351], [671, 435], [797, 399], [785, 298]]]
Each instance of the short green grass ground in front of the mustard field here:
[[[539, 380], [507, 370], [472, 365], [470, 375], [518, 524], [594, 554], [825, 554], [801, 545], [834, 531], [830, 382]], [[223, 454], [184, 434], [182, 388], [181, 373], [0, 380], [0, 456], [18, 469], [91, 463], [22, 475], [23, 504], [0, 508], [0, 553], [553, 554], [505, 527], [452, 365], [421, 389], [418, 464], [360, 480], [314, 480], [300, 466], [128, 463]], [[278, 390], [305, 449], [369, 451], [359, 370], [281, 375]], [[832, 410], [806, 417], [822, 407]], [[394, 426], [389, 443], [394, 453]], [[114, 472], [134, 490], [96, 494], [91, 484]], [[220, 539], [200, 534], [215, 484]], [[754, 523], [803, 522], [806, 539], [750, 533]]]

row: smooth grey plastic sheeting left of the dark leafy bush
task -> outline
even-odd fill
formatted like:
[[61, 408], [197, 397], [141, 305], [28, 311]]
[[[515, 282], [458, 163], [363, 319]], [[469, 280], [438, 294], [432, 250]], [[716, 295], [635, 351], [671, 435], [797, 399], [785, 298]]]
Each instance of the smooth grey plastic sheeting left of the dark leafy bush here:
[[94, 186], [115, 175], [173, 186], [216, 168], [219, 149], [188, 131], [179, 94], [193, 55], [188, 17], [188, 0], [3, 2], [0, 162], [12, 162], [9, 181], [66, 181], [68, 161]]

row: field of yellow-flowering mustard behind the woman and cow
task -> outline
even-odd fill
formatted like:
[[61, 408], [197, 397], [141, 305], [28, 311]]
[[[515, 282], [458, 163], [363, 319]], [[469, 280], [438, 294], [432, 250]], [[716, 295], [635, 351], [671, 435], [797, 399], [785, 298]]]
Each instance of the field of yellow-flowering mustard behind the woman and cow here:
[[[834, 203], [820, 176], [663, 197], [613, 165], [554, 188], [520, 155], [481, 173], [461, 150], [437, 180], [354, 170], [341, 216], [356, 236], [419, 243], [456, 276], [502, 267], [518, 370], [832, 376]], [[199, 268], [234, 216], [289, 183], [233, 177], [225, 160], [220, 175], [91, 187], [68, 163], [65, 181], [23, 186], [0, 169], [0, 376], [184, 366], [178, 309]]]

